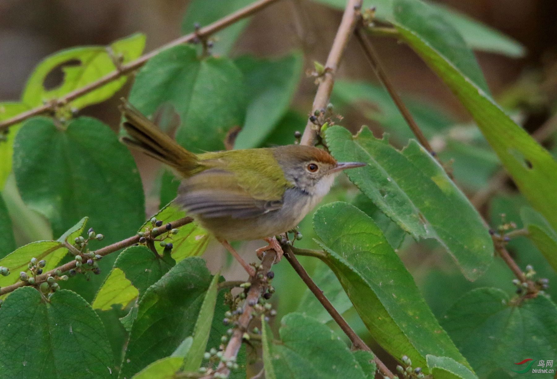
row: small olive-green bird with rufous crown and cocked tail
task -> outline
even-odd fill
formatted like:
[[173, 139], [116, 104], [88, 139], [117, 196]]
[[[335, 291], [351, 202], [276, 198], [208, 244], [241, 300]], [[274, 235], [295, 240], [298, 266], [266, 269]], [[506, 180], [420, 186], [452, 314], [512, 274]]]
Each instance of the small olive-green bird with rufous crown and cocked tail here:
[[314, 146], [285, 145], [194, 154], [123, 99], [121, 141], [164, 163], [182, 178], [173, 200], [226, 248], [250, 275], [255, 270], [229, 242], [262, 239], [282, 257], [276, 235], [294, 229], [325, 196], [335, 176], [364, 166], [337, 162]]

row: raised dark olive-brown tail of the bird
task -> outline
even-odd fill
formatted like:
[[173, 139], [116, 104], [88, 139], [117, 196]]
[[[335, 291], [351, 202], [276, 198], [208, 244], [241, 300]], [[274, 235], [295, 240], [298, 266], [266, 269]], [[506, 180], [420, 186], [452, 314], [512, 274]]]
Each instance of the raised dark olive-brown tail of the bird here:
[[119, 108], [125, 117], [122, 126], [129, 134], [121, 137], [122, 142], [169, 165], [184, 176], [191, 175], [198, 162], [195, 154], [178, 145], [125, 99]]

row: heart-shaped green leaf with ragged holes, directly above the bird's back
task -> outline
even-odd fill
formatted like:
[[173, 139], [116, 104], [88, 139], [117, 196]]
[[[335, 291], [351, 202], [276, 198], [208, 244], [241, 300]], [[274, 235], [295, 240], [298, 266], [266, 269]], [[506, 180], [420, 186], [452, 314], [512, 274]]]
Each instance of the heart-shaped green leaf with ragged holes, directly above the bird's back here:
[[223, 150], [228, 129], [243, 125], [242, 72], [228, 58], [197, 57], [192, 46], [158, 53], [138, 72], [129, 97], [146, 115], [169, 102], [180, 116], [176, 140], [193, 152]]

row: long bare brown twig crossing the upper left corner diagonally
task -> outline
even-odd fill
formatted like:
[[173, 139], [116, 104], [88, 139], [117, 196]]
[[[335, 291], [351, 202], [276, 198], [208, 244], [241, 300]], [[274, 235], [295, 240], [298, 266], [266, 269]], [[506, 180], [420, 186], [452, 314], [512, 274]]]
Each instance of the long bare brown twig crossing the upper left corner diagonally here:
[[252, 14], [254, 14], [258, 11], [261, 11], [261, 9], [269, 6], [270, 4], [272, 4], [276, 1], [278, 1], [278, 0], [259, 0], [255, 3], [252, 3], [252, 4], [248, 5], [247, 7], [244, 7], [244, 8], [242, 8], [242, 9], [240, 9], [240, 10], [234, 12], [234, 13], [229, 14], [226, 17], [223, 17], [223, 18], [213, 22], [212, 24], [209, 24], [206, 27], [203, 27], [203, 28], [199, 29], [197, 32], [189, 33], [188, 35], [177, 38], [176, 40], [167, 43], [167, 45], [159, 47], [158, 49], [153, 50], [153, 51], [139, 57], [135, 61], [131, 61], [129, 63], [126, 63], [125, 65], [121, 65], [117, 70], [109, 73], [108, 75], [105, 75], [105, 76], [101, 77], [97, 81], [89, 83], [85, 87], [78, 88], [77, 90], [68, 93], [66, 96], [60, 97], [60, 99], [55, 99], [55, 100], [49, 101], [45, 105], [33, 108], [33, 109], [28, 110], [26, 112], [23, 112], [23, 113], [21, 113], [17, 116], [14, 116], [11, 119], [0, 122], [0, 131], [2, 131], [4, 129], [7, 129], [11, 125], [18, 124], [19, 122], [22, 122], [22, 121], [24, 121], [24, 120], [26, 120], [30, 117], [42, 115], [46, 112], [52, 112], [57, 107], [66, 105], [67, 102], [75, 100], [78, 97], [85, 95], [86, 93], [89, 93], [93, 90], [96, 90], [96, 88], [104, 86], [106, 83], [109, 83], [111, 81], [116, 80], [120, 76], [126, 75], [126, 74], [130, 73], [131, 71], [136, 70], [137, 68], [143, 66], [148, 60], [150, 60], [150, 58], [153, 58], [159, 52], [161, 52], [161, 51], [163, 51], [167, 48], [182, 45], [183, 43], [187, 43], [187, 42], [192, 42], [193, 40], [195, 40], [196, 38], [199, 38], [199, 37], [202, 37], [202, 38], [203, 37], [208, 37], [208, 36], [218, 32], [218, 31], [221, 31], [223, 28], [226, 28], [227, 26], [229, 26], [229, 25], [231, 25], [231, 24], [233, 24], [237, 21], [240, 21], [243, 18], [250, 17]]

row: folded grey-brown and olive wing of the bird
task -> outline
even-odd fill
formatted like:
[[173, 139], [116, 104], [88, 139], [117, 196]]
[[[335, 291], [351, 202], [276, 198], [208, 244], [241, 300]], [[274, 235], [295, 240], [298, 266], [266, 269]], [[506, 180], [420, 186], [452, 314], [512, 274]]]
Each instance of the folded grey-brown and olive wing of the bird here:
[[236, 175], [227, 170], [212, 168], [184, 179], [176, 202], [189, 214], [204, 218], [245, 219], [280, 209], [282, 196], [267, 200], [253, 198], [238, 185]]

